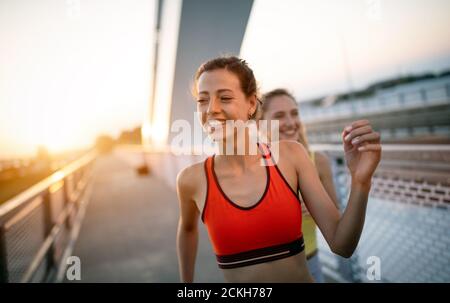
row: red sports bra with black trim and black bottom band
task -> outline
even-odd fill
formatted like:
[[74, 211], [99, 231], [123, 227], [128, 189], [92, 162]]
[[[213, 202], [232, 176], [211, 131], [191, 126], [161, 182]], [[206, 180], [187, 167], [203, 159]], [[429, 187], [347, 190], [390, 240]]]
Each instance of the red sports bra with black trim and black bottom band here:
[[250, 207], [227, 197], [214, 172], [214, 156], [205, 160], [207, 195], [202, 221], [220, 268], [278, 260], [304, 249], [301, 202], [273, 163], [269, 148], [259, 147], [266, 162], [267, 183], [262, 197]]

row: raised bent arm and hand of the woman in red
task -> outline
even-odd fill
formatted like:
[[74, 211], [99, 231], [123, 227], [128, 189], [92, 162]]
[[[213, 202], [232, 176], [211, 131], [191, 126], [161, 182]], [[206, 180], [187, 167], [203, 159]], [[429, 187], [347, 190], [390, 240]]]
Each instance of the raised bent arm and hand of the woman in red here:
[[[353, 122], [342, 132], [347, 166], [352, 178], [350, 196], [341, 215], [319, 176], [299, 144], [290, 154], [296, 167], [299, 186], [306, 206], [331, 250], [350, 257], [361, 236], [372, 175], [381, 158], [380, 135], [367, 120]], [[355, 139], [357, 140], [355, 141]], [[300, 149], [300, 150], [299, 150]]]

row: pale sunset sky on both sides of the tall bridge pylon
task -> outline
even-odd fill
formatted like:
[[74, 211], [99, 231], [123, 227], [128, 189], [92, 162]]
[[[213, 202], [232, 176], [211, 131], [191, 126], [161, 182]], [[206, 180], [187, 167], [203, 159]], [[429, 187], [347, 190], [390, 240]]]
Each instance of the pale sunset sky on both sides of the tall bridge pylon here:
[[[151, 93], [154, 8], [150, 0], [0, 0], [0, 157], [89, 146], [100, 133], [139, 126]], [[261, 0], [241, 56], [263, 91], [287, 87], [301, 101], [448, 69], [449, 37], [448, 0]]]

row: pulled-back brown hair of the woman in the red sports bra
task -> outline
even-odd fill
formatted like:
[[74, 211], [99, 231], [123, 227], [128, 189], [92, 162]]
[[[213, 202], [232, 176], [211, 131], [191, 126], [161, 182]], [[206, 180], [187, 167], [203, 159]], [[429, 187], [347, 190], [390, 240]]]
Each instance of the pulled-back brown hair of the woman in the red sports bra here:
[[225, 69], [235, 74], [241, 85], [241, 89], [246, 97], [255, 96], [258, 101], [256, 110], [250, 119], [258, 119], [261, 116], [261, 100], [259, 98], [258, 85], [256, 83], [253, 70], [248, 66], [247, 62], [235, 56], [223, 56], [206, 61], [198, 68], [194, 77], [194, 85], [192, 87], [192, 94], [194, 97], [198, 96], [197, 82], [200, 76], [205, 72], [210, 72], [217, 69]]

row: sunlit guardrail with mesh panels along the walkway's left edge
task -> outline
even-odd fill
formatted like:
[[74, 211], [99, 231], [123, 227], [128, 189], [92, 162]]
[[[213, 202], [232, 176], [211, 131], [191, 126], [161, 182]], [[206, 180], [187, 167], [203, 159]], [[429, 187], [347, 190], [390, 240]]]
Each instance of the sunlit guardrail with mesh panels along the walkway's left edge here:
[[0, 282], [61, 279], [96, 155], [89, 152], [0, 206]]

